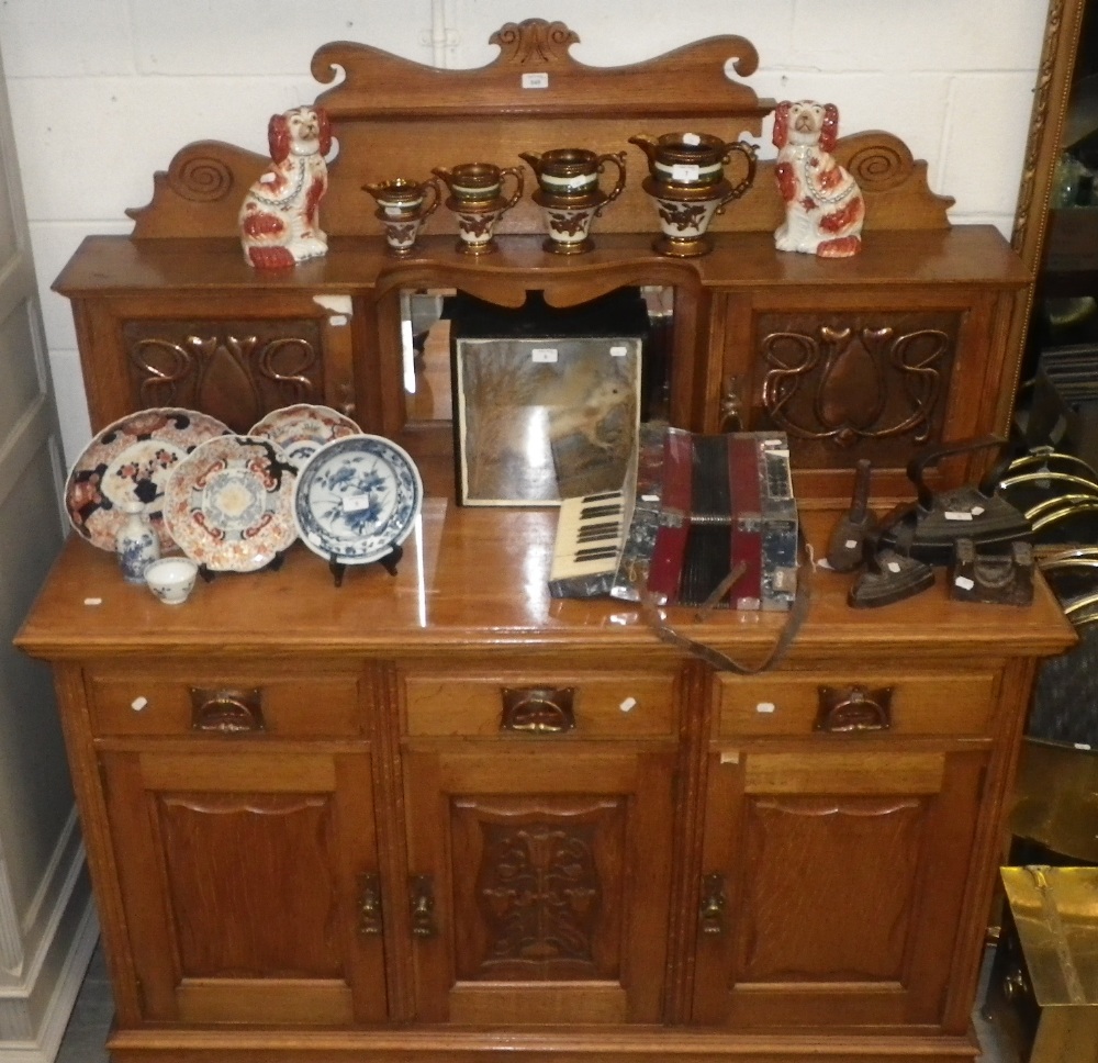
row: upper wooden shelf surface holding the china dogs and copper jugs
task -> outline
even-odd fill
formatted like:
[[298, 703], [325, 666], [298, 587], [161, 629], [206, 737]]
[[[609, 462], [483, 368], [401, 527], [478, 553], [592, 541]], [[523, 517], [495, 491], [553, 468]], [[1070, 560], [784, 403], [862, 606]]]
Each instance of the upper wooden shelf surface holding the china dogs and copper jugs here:
[[[394, 260], [377, 237], [333, 237], [324, 258], [302, 262], [293, 270], [257, 272], [240, 254], [235, 239], [146, 239], [90, 236], [65, 267], [54, 287], [69, 298], [163, 293], [262, 291], [290, 292], [368, 290], [392, 287], [407, 277], [417, 282], [426, 269], [462, 278], [508, 278], [516, 273], [575, 281], [584, 276], [632, 267], [650, 269], [653, 283], [666, 283], [681, 273], [697, 277], [707, 287], [759, 288], [844, 284], [894, 288], [910, 284], [963, 283], [976, 287], [1021, 288], [1029, 275], [1002, 236], [990, 225], [964, 225], [923, 232], [882, 232], [866, 238], [862, 254], [847, 259], [774, 253], [769, 233], [726, 233], [710, 255], [691, 261], [671, 260], [652, 253], [650, 237], [640, 234], [602, 235], [587, 255], [569, 258], [541, 249], [541, 238], [509, 235], [498, 238], [498, 251], [483, 260], [461, 255], [447, 236], [426, 236], [417, 255]], [[540, 281], [534, 281], [534, 286]]]

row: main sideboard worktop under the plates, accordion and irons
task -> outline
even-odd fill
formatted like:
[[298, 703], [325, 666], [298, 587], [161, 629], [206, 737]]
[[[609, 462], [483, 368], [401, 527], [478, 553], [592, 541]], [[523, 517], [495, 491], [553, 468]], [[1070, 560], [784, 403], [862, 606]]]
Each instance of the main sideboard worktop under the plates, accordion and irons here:
[[[810, 536], [826, 541], [830, 517], [806, 519]], [[279, 571], [200, 581], [179, 607], [124, 583], [113, 555], [71, 536], [16, 641], [48, 659], [227, 653], [274, 660], [302, 652], [354, 657], [515, 648], [660, 653], [664, 648], [637, 606], [549, 596], [556, 522], [554, 510], [461, 507], [428, 494], [395, 577], [377, 564], [350, 568], [336, 586], [327, 564], [299, 542]], [[1054, 653], [1074, 639], [1043, 583], [1029, 608], [975, 605], [951, 601], [940, 572], [932, 591], [865, 611], [847, 605], [850, 582], [824, 570], [813, 573], [810, 608], [794, 658], [887, 651], [889, 659], [919, 653], [956, 667], [966, 653], [981, 662]], [[99, 602], [86, 604], [89, 600]], [[697, 624], [692, 611], [675, 609], [671, 619], [692, 637], [750, 661], [765, 656], [786, 614], [714, 613]]]

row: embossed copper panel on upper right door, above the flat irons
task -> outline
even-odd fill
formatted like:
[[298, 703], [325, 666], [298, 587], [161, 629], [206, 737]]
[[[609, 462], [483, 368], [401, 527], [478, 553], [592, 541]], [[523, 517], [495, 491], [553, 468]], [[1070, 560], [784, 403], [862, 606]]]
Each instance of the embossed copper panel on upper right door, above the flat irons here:
[[755, 323], [765, 423], [805, 468], [854, 457], [904, 465], [941, 437], [962, 314], [763, 314]]

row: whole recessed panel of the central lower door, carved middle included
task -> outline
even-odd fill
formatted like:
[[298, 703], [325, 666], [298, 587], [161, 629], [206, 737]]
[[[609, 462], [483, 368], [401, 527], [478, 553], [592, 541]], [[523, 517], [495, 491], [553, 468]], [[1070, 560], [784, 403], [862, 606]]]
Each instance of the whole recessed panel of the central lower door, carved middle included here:
[[625, 816], [619, 797], [458, 801], [458, 977], [615, 977]]

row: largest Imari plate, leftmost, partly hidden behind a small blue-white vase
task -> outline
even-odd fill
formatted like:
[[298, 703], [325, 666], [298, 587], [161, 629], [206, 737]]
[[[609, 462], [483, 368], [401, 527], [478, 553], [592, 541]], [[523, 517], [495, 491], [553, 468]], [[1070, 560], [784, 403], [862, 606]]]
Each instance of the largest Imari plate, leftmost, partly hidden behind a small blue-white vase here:
[[175, 542], [164, 523], [164, 490], [176, 465], [200, 443], [231, 429], [204, 413], [175, 406], [139, 410], [108, 425], [85, 447], [65, 483], [72, 527], [92, 546], [114, 550], [124, 502], [143, 502], [160, 549]]

